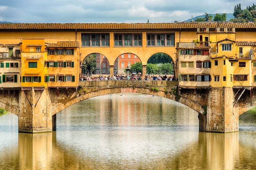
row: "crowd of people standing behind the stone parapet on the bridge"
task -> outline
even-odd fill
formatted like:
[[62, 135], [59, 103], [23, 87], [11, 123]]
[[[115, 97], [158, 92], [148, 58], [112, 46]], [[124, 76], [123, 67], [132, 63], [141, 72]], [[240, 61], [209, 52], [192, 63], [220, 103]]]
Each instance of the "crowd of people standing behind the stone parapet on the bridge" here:
[[166, 80], [166, 81], [178, 81], [178, 79], [174, 76], [150, 76], [150, 75], [114, 75], [114, 76], [103, 76], [100, 75], [99, 77], [91, 77], [91, 76], [82, 76], [80, 81], [104, 81], [104, 80]]

